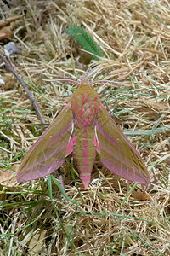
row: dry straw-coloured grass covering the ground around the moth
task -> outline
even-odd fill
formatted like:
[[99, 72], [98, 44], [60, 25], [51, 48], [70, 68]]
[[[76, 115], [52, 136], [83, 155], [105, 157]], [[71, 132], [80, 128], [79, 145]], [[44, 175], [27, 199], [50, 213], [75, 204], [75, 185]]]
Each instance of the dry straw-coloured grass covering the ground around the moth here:
[[[170, 255], [170, 4], [166, 0], [8, 2], [10, 9], [0, 0], [2, 18], [27, 10], [24, 19], [15, 22], [12, 38], [22, 52], [10, 61], [47, 123], [69, 101], [65, 93], [77, 85], [42, 79], [78, 81], [90, 70], [91, 81], [119, 82], [107, 84], [100, 99], [135, 147], [142, 148], [150, 185], [134, 188], [96, 160], [88, 190], [76, 177], [79, 193], [72, 182], [70, 157], [62, 172], [72, 201], [63, 200], [47, 178], [11, 187], [9, 183], [1, 195], [0, 254]], [[86, 28], [105, 58], [85, 61], [82, 50], [65, 34], [72, 23]], [[43, 127], [19, 82], [4, 66], [0, 68], [5, 80], [0, 90], [1, 166], [15, 169]], [[95, 84], [94, 89], [101, 86]]]

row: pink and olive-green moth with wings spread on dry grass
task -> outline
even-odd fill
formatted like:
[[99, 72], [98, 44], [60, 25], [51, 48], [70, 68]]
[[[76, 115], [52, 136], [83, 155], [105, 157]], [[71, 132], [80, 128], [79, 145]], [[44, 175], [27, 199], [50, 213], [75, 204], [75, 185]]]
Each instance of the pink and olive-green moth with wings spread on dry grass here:
[[20, 183], [44, 177], [59, 169], [73, 155], [85, 189], [88, 189], [96, 152], [102, 164], [129, 181], [147, 185], [149, 172], [139, 153], [99, 101], [87, 79], [82, 79], [48, 129], [42, 133], [20, 164]]

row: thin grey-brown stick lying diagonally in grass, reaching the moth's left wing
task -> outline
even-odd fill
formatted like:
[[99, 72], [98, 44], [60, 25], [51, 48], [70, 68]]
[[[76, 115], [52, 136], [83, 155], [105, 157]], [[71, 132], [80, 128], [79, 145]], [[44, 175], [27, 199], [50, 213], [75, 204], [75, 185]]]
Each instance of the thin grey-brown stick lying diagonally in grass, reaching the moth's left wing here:
[[8, 70], [12, 73], [14, 73], [14, 76], [16, 77], [16, 79], [18, 79], [20, 81], [20, 84], [24, 87], [24, 89], [26, 90], [27, 95], [29, 96], [32, 105], [34, 106], [42, 124], [45, 124], [45, 119], [42, 116], [41, 110], [37, 105], [36, 100], [34, 99], [34, 97], [31, 95], [31, 91], [28, 89], [27, 85], [24, 83], [24, 81], [21, 79], [20, 75], [18, 73], [16, 73], [16, 71], [14, 70], [14, 67], [12, 67], [12, 65], [10, 64], [10, 62], [5, 58], [5, 56], [3, 56], [3, 54], [0, 52], [0, 57], [2, 58], [3, 62], [5, 62], [6, 66], [8, 67]]

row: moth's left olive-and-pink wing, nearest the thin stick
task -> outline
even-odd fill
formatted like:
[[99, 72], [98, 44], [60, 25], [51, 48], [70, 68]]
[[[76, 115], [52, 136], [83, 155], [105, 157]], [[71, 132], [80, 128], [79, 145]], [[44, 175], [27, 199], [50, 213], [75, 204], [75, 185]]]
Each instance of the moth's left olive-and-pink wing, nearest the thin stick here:
[[71, 103], [69, 103], [22, 160], [17, 173], [18, 181], [21, 183], [44, 177], [62, 166], [66, 153], [71, 153], [73, 149], [72, 131]]

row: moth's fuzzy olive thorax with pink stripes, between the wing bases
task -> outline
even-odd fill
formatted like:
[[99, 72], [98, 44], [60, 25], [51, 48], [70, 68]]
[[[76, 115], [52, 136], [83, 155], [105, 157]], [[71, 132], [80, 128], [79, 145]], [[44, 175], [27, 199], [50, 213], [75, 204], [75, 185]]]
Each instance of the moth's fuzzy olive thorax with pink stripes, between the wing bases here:
[[95, 126], [95, 121], [99, 112], [99, 96], [88, 85], [82, 84], [71, 97], [71, 109], [75, 119], [75, 125], [87, 128], [89, 125]]

